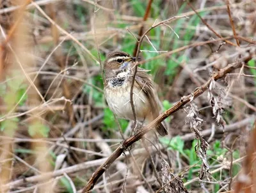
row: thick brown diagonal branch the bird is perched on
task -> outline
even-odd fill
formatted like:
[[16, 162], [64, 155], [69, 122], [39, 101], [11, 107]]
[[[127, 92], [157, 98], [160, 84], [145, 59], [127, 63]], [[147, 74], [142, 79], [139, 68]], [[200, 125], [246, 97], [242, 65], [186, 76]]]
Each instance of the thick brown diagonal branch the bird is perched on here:
[[100, 176], [106, 171], [106, 169], [109, 168], [109, 166], [111, 166], [111, 164], [120, 155], [122, 155], [123, 152], [125, 152], [125, 150], [127, 150], [127, 148], [131, 147], [131, 145], [133, 143], [135, 143], [136, 141], [140, 140], [148, 131], [153, 129], [155, 127], [155, 125], [163, 122], [164, 119], [166, 119], [167, 117], [169, 117], [170, 115], [172, 115], [176, 111], [180, 110], [185, 104], [189, 103], [191, 95], [193, 95], [194, 98], [200, 96], [201, 94], [203, 94], [205, 92], [205, 90], [208, 89], [208, 87], [209, 87], [209, 85], [210, 85], [212, 80], [218, 80], [220, 78], [223, 78], [227, 73], [230, 73], [230, 71], [233, 71], [234, 69], [237, 69], [237, 68], [241, 68], [241, 66], [244, 64], [244, 62], [246, 63], [246, 62], [250, 61], [250, 59], [255, 57], [255, 54], [256, 53], [250, 54], [250, 55], [248, 55], [246, 57], [243, 57], [239, 61], [234, 62], [232, 64], [228, 64], [227, 67], [225, 67], [223, 69], [220, 69], [220, 71], [214, 73], [209, 78], [209, 80], [206, 83], [204, 83], [204, 85], [202, 85], [201, 87], [198, 87], [197, 89], [195, 89], [195, 91], [192, 92], [191, 94], [189, 94], [188, 96], [182, 97], [179, 102], [177, 102], [176, 104], [174, 104], [172, 106], [172, 108], [164, 111], [164, 113], [159, 115], [150, 124], [148, 124], [145, 127], [143, 127], [137, 134], [135, 134], [134, 136], [131, 136], [128, 139], [126, 139], [124, 141], [124, 143], [122, 143], [122, 145], [120, 145], [120, 147], [116, 148], [115, 152], [113, 152], [113, 154], [107, 159], [107, 161], [104, 162], [104, 164], [102, 164], [95, 171], [95, 173], [93, 173], [93, 175], [90, 178], [88, 184], [86, 185], [86, 187], [84, 187], [82, 193], [86, 193], [86, 192], [89, 192], [90, 190], [92, 190], [94, 185], [95, 185], [95, 183], [100, 178]]

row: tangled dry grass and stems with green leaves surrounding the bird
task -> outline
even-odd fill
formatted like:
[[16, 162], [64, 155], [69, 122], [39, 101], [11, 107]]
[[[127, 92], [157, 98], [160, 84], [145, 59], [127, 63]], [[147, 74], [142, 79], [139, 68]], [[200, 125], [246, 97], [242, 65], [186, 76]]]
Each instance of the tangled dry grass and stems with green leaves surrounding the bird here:
[[[0, 0], [0, 14], [1, 192], [79, 192], [102, 164], [95, 192], [253, 192], [255, 1]], [[166, 138], [131, 136], [104, 100], [105, 55], [138, 45]]]

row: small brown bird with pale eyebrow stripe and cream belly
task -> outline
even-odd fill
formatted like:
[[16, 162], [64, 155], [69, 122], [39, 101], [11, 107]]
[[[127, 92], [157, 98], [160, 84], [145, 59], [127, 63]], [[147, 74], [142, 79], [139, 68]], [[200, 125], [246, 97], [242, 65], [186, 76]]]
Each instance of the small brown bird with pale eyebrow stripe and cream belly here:
[[[119, 118], [134, 120], [130, 103], [135, 57], [122, 51], [110, 52], [104, 62], [106, 85], [104, 88], [109, 108]], [[136, 117], [140, 122], [151, 122], [158, 117], [160, 106], [154, 82], [147, 71], [138, 68], [133, 87], [133, 101]], [[161, 136], [168, 134], [163, 124], [156, 126]]]

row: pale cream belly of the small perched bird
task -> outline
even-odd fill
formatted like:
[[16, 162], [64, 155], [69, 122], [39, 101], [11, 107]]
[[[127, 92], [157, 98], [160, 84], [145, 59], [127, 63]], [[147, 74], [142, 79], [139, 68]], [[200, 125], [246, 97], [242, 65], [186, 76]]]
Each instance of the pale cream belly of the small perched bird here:
[[[127, 120], [134, 120], [130, 103], [130, 91], [131, 84], [125, 82], [120, 87], [106, 87], [105, 97], [109, 108], [119, 118]], [[134, 87], [133, 89], [133, 101], [136, 111], [136, 117], [139, 121], [147, 119], [147, 115], [150, 115], [150, 104], [145, 96], [144, 92]]]

